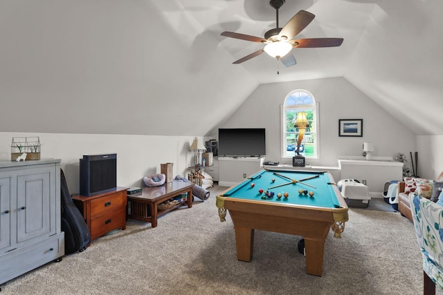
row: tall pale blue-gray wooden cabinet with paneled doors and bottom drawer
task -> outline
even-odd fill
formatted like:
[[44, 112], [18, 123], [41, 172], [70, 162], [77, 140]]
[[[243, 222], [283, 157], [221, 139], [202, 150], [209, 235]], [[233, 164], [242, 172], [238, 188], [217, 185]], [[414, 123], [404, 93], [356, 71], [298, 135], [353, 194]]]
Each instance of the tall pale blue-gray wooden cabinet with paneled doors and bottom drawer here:
[[0, 284], [63, 255], [60, 160], [0, 161]]

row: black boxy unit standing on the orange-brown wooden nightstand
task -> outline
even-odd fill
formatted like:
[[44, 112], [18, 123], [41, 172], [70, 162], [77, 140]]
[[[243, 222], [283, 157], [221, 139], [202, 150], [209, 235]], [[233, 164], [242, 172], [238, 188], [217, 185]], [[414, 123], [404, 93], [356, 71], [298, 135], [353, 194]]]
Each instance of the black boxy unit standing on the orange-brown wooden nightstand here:
[[80, 159], [80, 195], [95, 196], [117, 187], [117, 154], [83, 155]]

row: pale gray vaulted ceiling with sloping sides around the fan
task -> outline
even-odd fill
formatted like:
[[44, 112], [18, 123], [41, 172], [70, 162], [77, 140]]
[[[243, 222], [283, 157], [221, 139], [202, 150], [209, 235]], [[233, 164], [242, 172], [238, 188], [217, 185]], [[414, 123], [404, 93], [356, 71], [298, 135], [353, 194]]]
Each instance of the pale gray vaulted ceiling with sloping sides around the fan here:
[[443, 134], [442, 1], [286, 0], [280, 27], [299, 10], [316, 17], [298, 38], [344, 41], [294, 48], [287, 68], [232, 64], [262, 44], [220, 35], [263, 37], [269, 0], [1, 1], [0, 131], [205, 135], [259, 84], [344, 77], [414, 133]]

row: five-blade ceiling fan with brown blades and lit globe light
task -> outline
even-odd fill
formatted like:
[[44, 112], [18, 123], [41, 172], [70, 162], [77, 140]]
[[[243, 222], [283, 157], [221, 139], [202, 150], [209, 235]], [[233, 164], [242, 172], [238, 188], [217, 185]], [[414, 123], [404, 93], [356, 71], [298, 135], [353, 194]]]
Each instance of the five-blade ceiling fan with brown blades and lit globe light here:
[[292, 48], [318, 48], [318, 47], [335, 47], [341, 46], [343, 38], [309, 38], [309, 39], [293, 39], [304, 28], [311, 23], [315, 15], [305, 10], [300, 10], [290, 19], [283, 28], [278, 27], [278, 9], [282, 7], [286, 0], [270, 0], [269, 5], [276, 11], [275, 28], [264, 33], [264, 38], [251, 35], [244, 35], [237, 32], [222, 32], [221, 36], [242, 39], [257, 43], [266, 44], [264, 48], [246, 55], [241, 59], [234, 61], [233, 64], [240, 64], [253, 57], [261, 55], [263, 52], [268, 53], [271, 57], [280, 59], [284, 66], [293, 66], [296, 64], [296, 58], [291, 52]]

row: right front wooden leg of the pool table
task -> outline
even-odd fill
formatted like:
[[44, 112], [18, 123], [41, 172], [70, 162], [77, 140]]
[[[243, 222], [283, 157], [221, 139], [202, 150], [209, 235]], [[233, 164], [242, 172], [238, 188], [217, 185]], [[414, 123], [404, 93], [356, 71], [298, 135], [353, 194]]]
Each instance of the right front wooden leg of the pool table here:
[[314, 276], [323, 274], [323, 254], [325, 240], [313, 240], [305, 237], [306, 273]]

